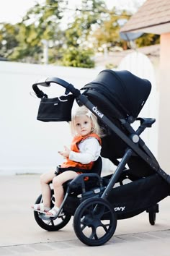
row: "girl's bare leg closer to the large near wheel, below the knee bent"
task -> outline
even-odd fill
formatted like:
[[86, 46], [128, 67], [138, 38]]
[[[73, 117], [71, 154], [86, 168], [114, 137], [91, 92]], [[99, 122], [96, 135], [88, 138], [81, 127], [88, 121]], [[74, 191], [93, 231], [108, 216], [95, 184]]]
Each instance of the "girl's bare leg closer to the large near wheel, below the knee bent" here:
[[59, 208], [61, 203], [63, 202], [63, 183], [67, 182], [69, 179], [74, 179], [78, 176], [75, 171], [65, 171], [62, 174], [55, 176], [53, 178], [53, 188], [54, 188], [54, 195], [55, 195], [55, 207]]

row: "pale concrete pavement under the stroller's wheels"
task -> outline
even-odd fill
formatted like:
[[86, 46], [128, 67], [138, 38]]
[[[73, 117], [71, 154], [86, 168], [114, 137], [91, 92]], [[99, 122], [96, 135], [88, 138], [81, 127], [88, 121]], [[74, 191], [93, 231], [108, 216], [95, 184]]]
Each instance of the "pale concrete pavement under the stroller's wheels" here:
[[40, 195], [40, 175], [0, 176], [1, 255], [170, 255], [170, 198], [159, 203], [156, 225], [148, 213], [117, 221], [112, 239], [101, 247], [82, 244], [73, 231], [72, 219], [60, 231], [48, 232], [35, 222], [30, 208]]

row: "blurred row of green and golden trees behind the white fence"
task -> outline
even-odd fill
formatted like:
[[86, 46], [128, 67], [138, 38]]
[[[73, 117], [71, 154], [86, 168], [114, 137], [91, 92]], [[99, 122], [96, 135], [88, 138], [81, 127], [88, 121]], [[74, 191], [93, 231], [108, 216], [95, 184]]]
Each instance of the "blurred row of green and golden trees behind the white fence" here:
[[[72, 18], [62, 27], [66, 13]], [[42, 40], [48, 41], [49, 63], [73, 67], [94, 67], [97, 51], [128, 48], [120, 38], [120, 26], [130, 14], [109, 10], [103, 0], [81, 0], [79, 8], [68, 13], [66, 0], [45, 0], [35, 4], [16, 25], [1, 23], [0, 57], [11, 61], [42, 62]], [[66, 19], [65, 19], [65, 22]], [[158, 35], [144, 34], [138, 47], [159, 42]]]

